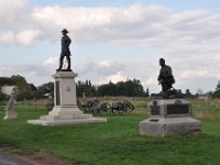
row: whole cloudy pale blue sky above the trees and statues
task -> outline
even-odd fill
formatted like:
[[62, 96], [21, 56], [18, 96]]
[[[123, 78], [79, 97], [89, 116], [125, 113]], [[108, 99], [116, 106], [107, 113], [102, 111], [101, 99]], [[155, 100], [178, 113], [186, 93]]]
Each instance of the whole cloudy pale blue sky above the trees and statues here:
[[53, 81], [64, 28], [77, 80], [136, 78], [157, 92], [160, 57], [183, 91], [220, 80], [219, 0], [0, 0], [0, 76]]

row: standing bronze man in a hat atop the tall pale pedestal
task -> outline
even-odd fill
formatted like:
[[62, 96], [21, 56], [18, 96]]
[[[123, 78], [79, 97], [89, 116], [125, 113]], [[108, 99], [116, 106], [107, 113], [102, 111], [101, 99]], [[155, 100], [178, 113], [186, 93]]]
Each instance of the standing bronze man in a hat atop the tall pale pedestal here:
[[[70, 51], [69, 51], [69, 45], [72, 43], [72, 40], [67, 35], [68, 31], [66, 29], [64, 29], [62, 31], [62, 33], [63, 33], [62, 53], [61, 53], [61, 57], [59, 57], [59, 67], [56, 70], [57, 72], [59, 72], [59, 70], [72, 72], [72, 68], [70, 68]], [[62, 69], [63, 64], [64, 64], [64, 57], [66, 57], [67, 64], [68, 64], [66, 69]]]

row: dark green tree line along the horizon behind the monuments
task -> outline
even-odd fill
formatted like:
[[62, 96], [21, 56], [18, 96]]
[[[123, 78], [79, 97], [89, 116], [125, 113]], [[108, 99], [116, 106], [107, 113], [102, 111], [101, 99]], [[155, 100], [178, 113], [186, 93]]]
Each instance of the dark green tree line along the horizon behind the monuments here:
[[[46, 82], [41, 86], [34, 86], [33, 84], [29, 84], [26, 79], [20, 75], [13, 75], [11, 77], [0, 77], [0, 87], [1, 86], [16, 86], [18, 94], [16, 100], [23, 99], [42, 99], [47, 98], [48, 95], [54, 95], [54, 82]], [[103, 96], [125, 96], [125, 97], [156, 97], [158, 94], [151, 94], [148, 88], [144, 90], [141, 81], [139, 79], [127, 79], [125, 81], [119, 81], [113, 84], [109, 81], [108, 84], [102, 85], [92, 85], [90, 80], [77, 81], [76, 82], [77, 96], [78, 97], [103, 97]], [[178, 89], [185, 97], [196, 97], [200, 95], [193, 95], [189, 89], [186, 89], [183, 92]], [[208, 94], [213, 98], [220, 98], [220, 81], [218, 81], [215, 91], [210, 91]], [[0, 101], [7, 98], [0, 90]]]

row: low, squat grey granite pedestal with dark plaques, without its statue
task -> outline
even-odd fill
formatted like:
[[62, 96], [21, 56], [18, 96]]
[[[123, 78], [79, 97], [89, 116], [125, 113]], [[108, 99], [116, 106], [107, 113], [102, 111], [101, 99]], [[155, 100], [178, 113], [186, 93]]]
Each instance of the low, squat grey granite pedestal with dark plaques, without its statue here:
[[190, 102], [185, 99], [161, 99], [148, 105], [150, 119], [140, 122], [140, 134], [169, 136], [199, 134], [201, 123], [191, 118]]

